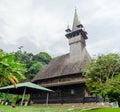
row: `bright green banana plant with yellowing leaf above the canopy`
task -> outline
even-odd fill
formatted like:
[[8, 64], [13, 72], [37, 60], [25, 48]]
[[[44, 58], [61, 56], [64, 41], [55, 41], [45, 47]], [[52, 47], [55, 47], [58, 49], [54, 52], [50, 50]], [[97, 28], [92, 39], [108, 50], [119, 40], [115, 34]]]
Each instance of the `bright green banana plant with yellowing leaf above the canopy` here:
[[16, 87], [18, 80], [25, 79], [24, 65], [14, 61], [13, 53], [0, 51], [0, 86], [12, 83]]

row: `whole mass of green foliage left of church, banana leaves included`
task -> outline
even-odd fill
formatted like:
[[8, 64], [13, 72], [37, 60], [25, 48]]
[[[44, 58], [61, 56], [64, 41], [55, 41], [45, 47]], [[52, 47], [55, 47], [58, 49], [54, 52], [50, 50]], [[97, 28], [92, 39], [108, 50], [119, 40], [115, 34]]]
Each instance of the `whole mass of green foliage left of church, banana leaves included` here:
[[[0, 86], [12, 83], [16, 87], [18, 80], [31, 80], [51, 59], [51, 56], [45, 52], [34, 55], [21, 50], [14, 53], [5, 53], [0, 50]], [[0, 93], [0, 99], [6, 99], [5, 96], [4, 93]], [[9, 100], [11, 97], [12, 95], [8, 95]]]

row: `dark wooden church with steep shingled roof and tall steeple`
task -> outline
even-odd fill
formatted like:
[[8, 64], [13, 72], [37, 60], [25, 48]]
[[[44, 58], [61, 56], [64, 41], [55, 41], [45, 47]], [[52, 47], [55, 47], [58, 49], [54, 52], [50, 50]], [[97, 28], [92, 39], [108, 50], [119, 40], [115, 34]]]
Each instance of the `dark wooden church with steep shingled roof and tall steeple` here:
[[[87, 96], [83, 69], [91, 61], [86, 50], [87, 32], [78, 20], [75, 10], [72, 29], [66, 29], [70, 52], [53, 58], [32, 80], [50, 88], [49, 103], [80, 103]], [[32, 95], [33, 103], [46, 103], [45, 93]]]

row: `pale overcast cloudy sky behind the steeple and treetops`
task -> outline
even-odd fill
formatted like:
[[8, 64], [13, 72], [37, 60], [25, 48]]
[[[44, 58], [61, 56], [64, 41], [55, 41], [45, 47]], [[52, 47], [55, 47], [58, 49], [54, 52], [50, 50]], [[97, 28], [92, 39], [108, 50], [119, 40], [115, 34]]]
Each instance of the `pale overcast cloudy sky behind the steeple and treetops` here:
[[90, 55], [120, 52], [120, 0], [0, 0], [0, 49], [68, 53], [65, 29], [75, 7]]

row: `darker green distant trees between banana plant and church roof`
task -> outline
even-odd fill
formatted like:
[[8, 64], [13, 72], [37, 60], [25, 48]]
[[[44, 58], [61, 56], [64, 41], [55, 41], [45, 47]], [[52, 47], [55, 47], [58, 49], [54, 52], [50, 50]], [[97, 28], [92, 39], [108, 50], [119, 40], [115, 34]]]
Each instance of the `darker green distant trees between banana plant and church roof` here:
[[36, 55], [21, 50], [15, 52], [15, 60], [26, 65], [25, 76], [27, 80], [31, 80], [51, 59], [51, 56], [46, 52], [40, 52]]

